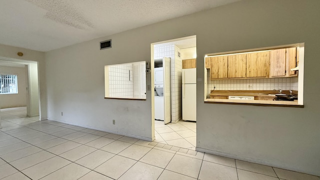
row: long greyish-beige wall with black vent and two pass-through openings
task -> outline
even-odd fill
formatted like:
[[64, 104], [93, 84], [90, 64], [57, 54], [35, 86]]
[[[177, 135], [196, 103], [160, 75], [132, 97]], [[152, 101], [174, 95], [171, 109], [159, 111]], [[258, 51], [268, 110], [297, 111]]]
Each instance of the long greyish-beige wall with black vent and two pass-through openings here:
[[[145, 101], [104, 99], [104, 65], [151, 63], [150, 43], [196, 35], [197, 149], [320, 175], [319, 8], [318, 0], [242, 0], [49, 51], [48, 119], [151, 139], [153, 90]], [[105, 39], [112, 48], [99, 50]], [[298, 42], [305, 42], [304, 108], [203, 102], [204, 54]]]

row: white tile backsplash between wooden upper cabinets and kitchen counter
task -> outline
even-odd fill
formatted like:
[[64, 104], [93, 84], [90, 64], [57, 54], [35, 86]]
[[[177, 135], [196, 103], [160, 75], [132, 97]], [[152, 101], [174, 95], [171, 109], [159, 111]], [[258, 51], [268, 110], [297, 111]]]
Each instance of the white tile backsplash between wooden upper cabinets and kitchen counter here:
[[[298, 90], [298, 77], [210, 80], [207, 69], [207, 90]], [[250, 86], [250, 87], [249, 87]]]

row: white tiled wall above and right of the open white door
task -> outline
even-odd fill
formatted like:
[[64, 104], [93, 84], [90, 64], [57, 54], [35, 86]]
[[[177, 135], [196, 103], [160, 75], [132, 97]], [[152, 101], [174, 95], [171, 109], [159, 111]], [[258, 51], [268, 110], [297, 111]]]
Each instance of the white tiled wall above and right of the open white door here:
[[182, 60], [177, 56], [180, 49], [175, 45], [154, 45], [154, 59], [171, 58], [171, 120], [182, 118]]

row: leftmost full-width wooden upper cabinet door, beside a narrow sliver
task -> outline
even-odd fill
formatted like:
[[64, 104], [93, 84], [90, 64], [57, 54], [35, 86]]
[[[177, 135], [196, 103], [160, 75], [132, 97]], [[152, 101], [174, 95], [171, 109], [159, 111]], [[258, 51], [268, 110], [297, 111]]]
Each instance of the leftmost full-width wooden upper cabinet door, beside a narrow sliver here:
[[210, 78], [227, 78], [227, 56], [211, 57]]

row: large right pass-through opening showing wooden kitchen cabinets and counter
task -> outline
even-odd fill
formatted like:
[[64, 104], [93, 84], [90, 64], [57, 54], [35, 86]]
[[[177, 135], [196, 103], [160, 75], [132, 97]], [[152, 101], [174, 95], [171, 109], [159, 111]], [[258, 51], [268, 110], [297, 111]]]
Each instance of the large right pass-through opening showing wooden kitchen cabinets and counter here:
[[303, 63], [304, 43], [207, 54], [204, 101], [303, 107]]

